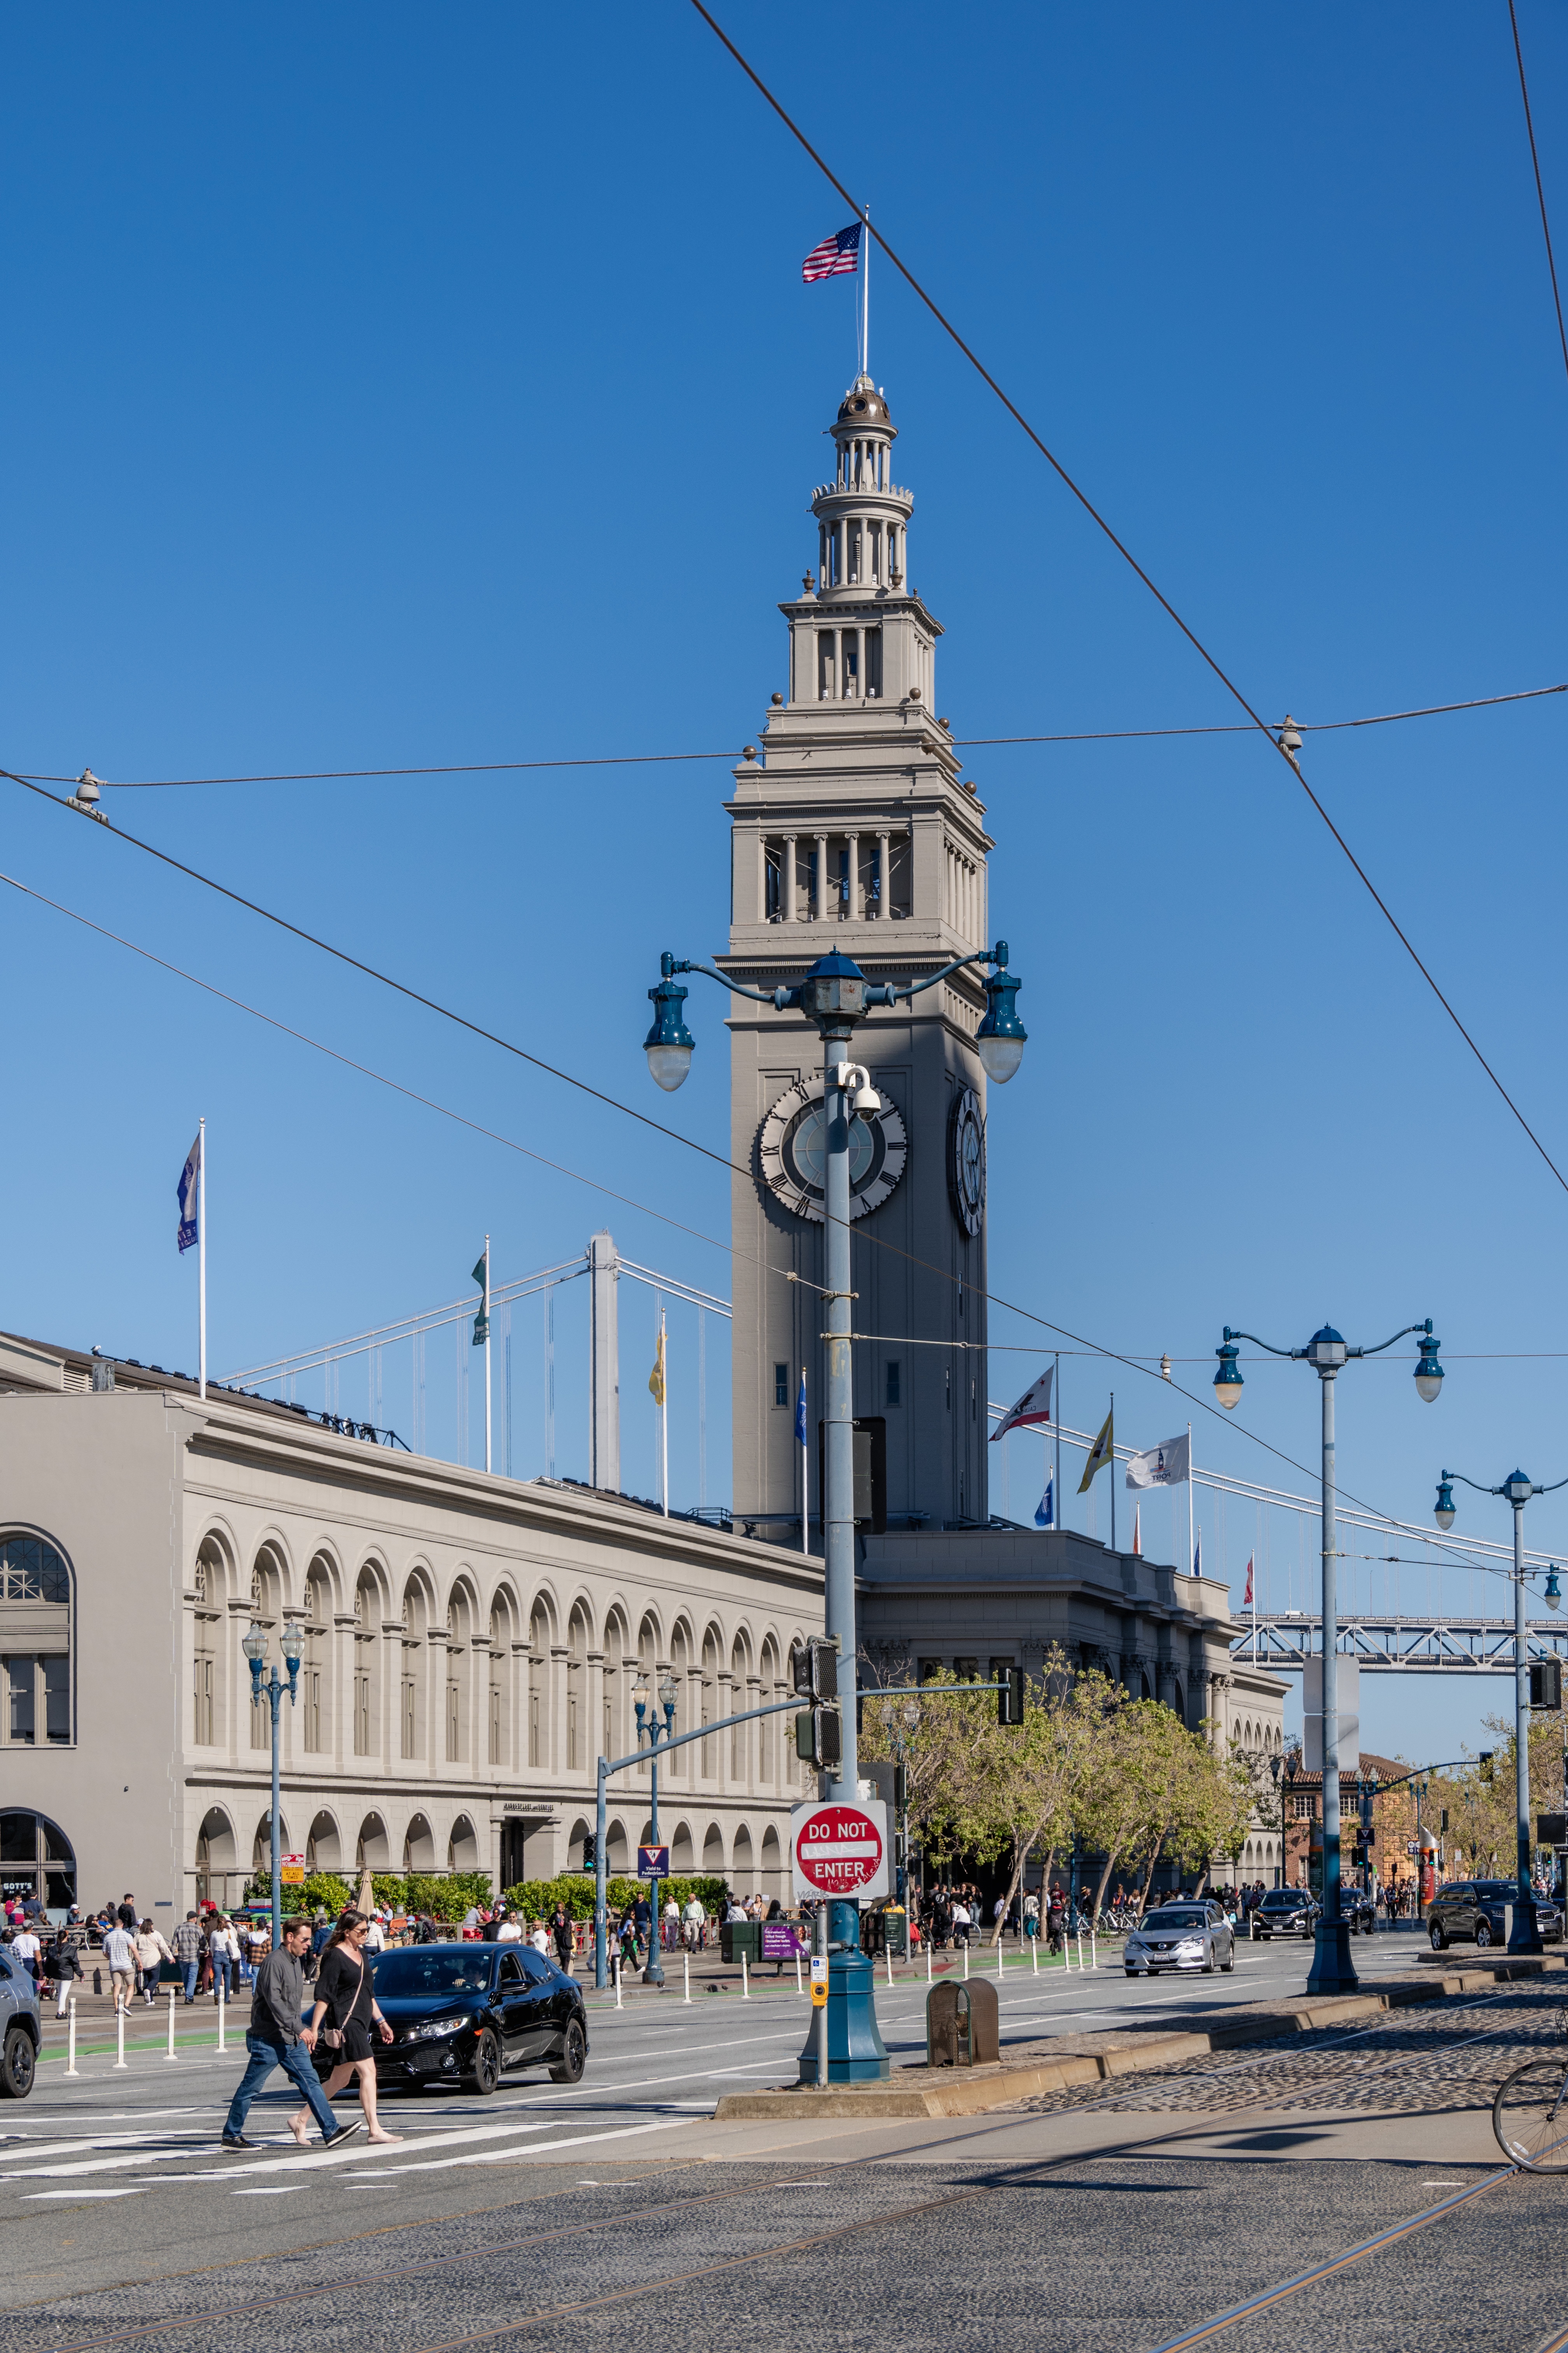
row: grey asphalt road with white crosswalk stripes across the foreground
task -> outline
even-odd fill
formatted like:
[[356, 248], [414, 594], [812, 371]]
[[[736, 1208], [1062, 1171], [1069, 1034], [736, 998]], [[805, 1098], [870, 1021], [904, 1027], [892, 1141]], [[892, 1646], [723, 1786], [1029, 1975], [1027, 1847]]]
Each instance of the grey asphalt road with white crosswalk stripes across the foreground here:
[[[1373, 1981], [1415, 1955], [1415, 1939], [1356, 1944]], [[1300, 1993], [1305, 1972], [1295, 1946], [1241, 1946], [1234, 1977], [1178, 1984], [1128, 1984], [1119, 1962], [1009, 1972], [1001, 2024], [1011, 2040], [1154, 2026]], [[52, 2035], [33, 2099], [0, 2111], [0, 2353], [143, 2337], [233, 2353], [284, 2332], [435, 2353], [562, 2327], [649, 2353], [698, 2332], [858, 2353], [867, 2327], [1154, 2353], [1326, 2261], [1331, 2278], [1215, 2341], [1537, 2353], [1568, 2322], [1568, 2181], [1509, 2177], [1488, 2106], [1507, 2064], [1559, 2047], [1561, 2000], [1554, 1981], [1500, 1988], [961, 2122], [731, 2127], [715, 2099], [790, 2080], [809, 2005], [785, 1981], [686, 2007], [677, 1981], [595, 2002], [576, 2089], [529, 2073], [487, 2101], [393, 2097], [397, 2148], [301, 2153], [280, 2085], [244, 2158], [216, 2153], [242, 2052], [136, 2049], [125, 2073], [94, 2052], [63, 2080]], [[922, 2012], [924, 1984], [882, 1988], [896, 2054], [922, 2047]]]

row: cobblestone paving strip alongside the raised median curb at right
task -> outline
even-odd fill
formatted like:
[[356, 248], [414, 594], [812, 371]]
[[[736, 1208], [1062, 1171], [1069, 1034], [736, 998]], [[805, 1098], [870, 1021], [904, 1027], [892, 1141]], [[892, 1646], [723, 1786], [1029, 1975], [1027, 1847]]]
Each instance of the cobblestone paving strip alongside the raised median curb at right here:
[[1095, 2108], [1215, 2113], [1234, 2108], [1490, 2108], [1497, 2082], [1537, 2049], [1566, 2047], [1561, 1986], [1505, 1986], [1497, 1993], [1396, 2009], [1368, 2026], [1326, 2026], [1288, 2040], [1178, 2059], [1114, 2085], [1077, 2085], [1013, 2101], [1018, 2115]]

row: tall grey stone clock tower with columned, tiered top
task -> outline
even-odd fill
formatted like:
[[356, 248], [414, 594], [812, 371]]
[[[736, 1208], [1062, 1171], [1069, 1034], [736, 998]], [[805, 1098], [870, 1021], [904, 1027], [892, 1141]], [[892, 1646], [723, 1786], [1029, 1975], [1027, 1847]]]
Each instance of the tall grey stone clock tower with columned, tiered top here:
[[[914, 499], [896, 428], [860, 376], [811, 496], [816, 565], [780, 605], [788, 694], [736, 767], [722, 965], [797, 984], [842, 951], [870, 981], [919, 981], [990, 944], [985, 833], [936, 715], [940, 624], [910, 586]], [[856, 1515], [973, 1527], [985, 1494], [985, 1073], [973, 972], [882, 1007], [853, 1035], [877, 1111], [851, 1129]], [[811, 1551], [820, 1551], [823, 1064], [790, 1012], [731, 1000], [733, 1508], [799, 1546], [806, 1374]], [[795, 1278], [795, 1280], [790, 1280]]]

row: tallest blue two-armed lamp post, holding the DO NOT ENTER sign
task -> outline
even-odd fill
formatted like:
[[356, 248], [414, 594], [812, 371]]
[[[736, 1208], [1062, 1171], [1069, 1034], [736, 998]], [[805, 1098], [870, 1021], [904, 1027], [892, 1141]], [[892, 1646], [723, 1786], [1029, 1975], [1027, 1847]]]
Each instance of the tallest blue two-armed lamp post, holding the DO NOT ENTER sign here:
[[[994, 948], [976, 955], [954, 955], [950, 965], [924, 981], [896, 988], [891, 981], [867, 981], [860, 967], [839, 951], [830, 951], [806, 972], [795, 988], [745, 988], [731, 981], [715, 965], [682, 962], [665, 953], [658, 960], [658, 986], [649, 988], [654, 1002], [654, 1026], [644, 1040], [649, 1071], [656, 1085], [675, 1092], [691, 1068], [696, 1040], [686, 1028], [686, 991], [679, 972], [703, 972], [719, 981], [731, 995], [752, 998], [776, 1012], [799, 1012], [816, 1024], [823, 1040], [823, 1115], [827, 1129], [825, 1167], [825, 1287], [823, 1287], [823, 1339], [827, 1341], [827, 1379], [823, 1384], [823, 1619], [830, 1640], [837, 1638], [839, 1657], [851, 1675], [856, 1661], [856, 1478], [853, 1478], [853, 1379], [851, 1379], [851, 1259], [849, 1259], [849, 1134], [856, 1111], [877, 1108], [877, 1089], [870, 1073], [849, 1061], [849, 1045], [856, 1026], [877, 1005], [900, 1005], [907, 998], [936, 988], [969, 965], [990, 965], [985, 976], [985, 1019], [976, 1031], [976, 1054], [987, 1078], [1004, 1085], [1023, 1061], [1027, 1031], [1018, 1019], [1016, 974], [1006, 969], [1009, 948], [999, 939]], [[856, 1755], [856, 1711], [844, 1708], [842, 1762], [830, 1779], [832, 1800], [856, 1805], [860, 1795], [860, 1767]], [[802, 2073], [816, 2080], [816, 2038], [802, 2052]], [[889, 2057], [877, 2031], [877, 2005], [872, 1998], [872, 1965], [860, 1951], [860, 1906], [853, 1897], [837, 1897], [827, 1906], [827, 2078], [830, 2082], [863, 2082], [889, 2073]]]

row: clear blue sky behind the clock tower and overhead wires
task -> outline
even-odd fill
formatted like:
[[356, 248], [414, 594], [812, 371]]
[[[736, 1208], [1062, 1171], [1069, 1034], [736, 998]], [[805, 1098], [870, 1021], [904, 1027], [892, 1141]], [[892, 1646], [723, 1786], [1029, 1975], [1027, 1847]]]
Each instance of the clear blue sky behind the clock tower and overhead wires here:
[[[1265, 713], [1568, 671], [1568, 384], [1507, 12], [914, 5], [867, 54], [811, 0], [731, 0], [724, 21]], [[1568, 238], [1568, 28], [1540, 0], [1521, 28]], [[842, 200], [684, 0], [611, 0], [590, 45], [569, 12], [482, 5], [89, 5], [14, 19], [7, 66], [9, 767], [228, 776], [755, 736], [853, 294], [802, 287]], [[886, 266], [872, 372], [961, 736], [1232, 718]], [[1316, 791], [1559, 1165], [1566, 722], [1547, 699], [1307, 739]], [[1425, 1518], [1443, 1461], [1568, 1471], [1568, 1198], [1281, 762], [1197, 736], [990, 748], [973, 772], [1032, 1033], [994, 1096], [997, 1294], [1133, 1355], [1168, 1348], [1199, 1388], [1227, 1320], [1382, 1339], [1432, 1313], [1441, 1402], [1415, 1402], [1403, 1351], [1354, 1369], [1345, 1485]], [[661, 946], [722, 941], [724, 788], [712, 762], [108, 805], [651, 1108], [644, 991]], [[456, 1299], [487, 1228], [498, 1278], [609, 1224], [639, 1261], [729, 1289], [722, 1247], [677, 1231], [724, 1240], [719, 1172], [5, 791], [7, 873], [644, 1205], [5, 894], [7, 1325], [193, 1362], [174, 1179], [197, 1113], [216, 1367]], [[693, 1080], [663, 1108], [712, 1144], [722, 1028], [698, 1009]], [[567, 1289], [567, 1471], [585, 1461], [578, 1325]], [[651, 1299], [625, 1325], [635, 1395]], [[1034, 1337], [1004, 1311], [992, 1334]], [[724, 1499], [712, 1320], [705, 1346], [705, 1487]], [[512, 1351], [531, 1471], [536, 1304]], [[677, 1308], [691, 1497], [693, 1360]], [[1032, 1362], [997, 1355], [992, 1395]], [[1133, 1442], [1185, 1421], [1126, 1369], [1070, 1360], [1065, 1379], [1091, 1424], [1114, 1386]], [[1309, 1466], [1309, 1374], [1260, 1365], [1239, 1421]], [[1239, 1428], [1208, 1421], [1199, 1449], [1300, 1485]], [[654, 1482], [651, 1407], [628, 1407], [625, 1478]], [[1204, 1511], [1239, 1595], [1251, 1508], [1225, 1527]], [[1502, 1537], [1505, 1513], [1474, 1499], [1462, 1527]], [[1563, 1499], [1530, 1527], [1568, 1546]], [[1269, 1574], [1293, 1548], [1293, 1527], [1269, 1537]], [[1505, 1704], [1505, 1682], [1380, 1682], [1366, 1737], [1418, 1753]]]

